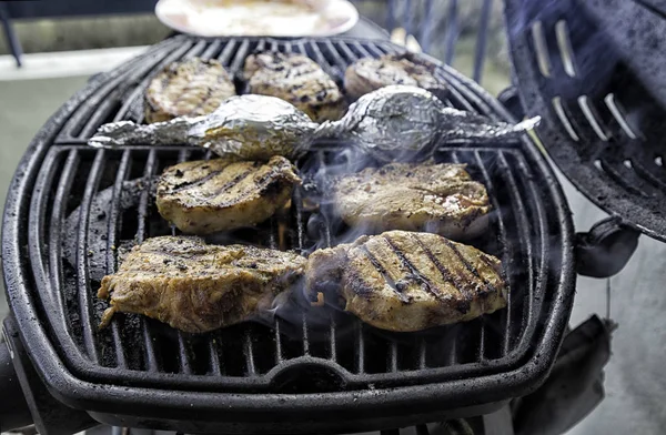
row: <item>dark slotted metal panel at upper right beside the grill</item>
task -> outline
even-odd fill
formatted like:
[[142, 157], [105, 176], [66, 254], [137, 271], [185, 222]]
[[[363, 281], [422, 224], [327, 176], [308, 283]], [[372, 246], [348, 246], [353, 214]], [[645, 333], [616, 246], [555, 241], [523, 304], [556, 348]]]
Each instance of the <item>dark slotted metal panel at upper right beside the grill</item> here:
[[516, 87], [551, 158], [592, 202], [666, 241], [666, 20], [648, 1], [506, 2]]

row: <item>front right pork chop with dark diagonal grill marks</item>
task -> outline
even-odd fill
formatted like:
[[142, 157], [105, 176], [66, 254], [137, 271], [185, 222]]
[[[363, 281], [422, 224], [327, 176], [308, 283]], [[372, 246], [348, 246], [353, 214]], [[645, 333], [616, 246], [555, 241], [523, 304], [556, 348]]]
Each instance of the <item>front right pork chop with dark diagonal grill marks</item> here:
[[391, 331], [464, 322], [506, 306], [500, 260], [436, 234], [390, 231], [310, 255], [311, 295], [339, 286], [345, 310]]

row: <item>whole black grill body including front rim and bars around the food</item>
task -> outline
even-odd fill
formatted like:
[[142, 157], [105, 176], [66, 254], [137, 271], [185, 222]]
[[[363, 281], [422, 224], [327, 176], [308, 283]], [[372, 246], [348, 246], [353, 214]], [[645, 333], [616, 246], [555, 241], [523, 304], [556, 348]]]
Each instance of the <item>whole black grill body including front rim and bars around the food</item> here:
[[[563, 192], [525, 139], [492, 146], [442, 145], [436, 159], [465, 162], [487, 186], [495, 212], [472, 244], [500, 256], [508, 307], [465, 324], [416, 334], [374, 330], [337, 312], [293, 312], [272, 327], [245, 323], [188, 335], [137, 315], [97, 325], [95, 297], [123, 243], [169, 234], [150, 180], [191, 148], [95, 150], [85, 141], [109, 121], [142, 121], [152, 73], [193, 55], [238, 73], [253, 50], [297, 51], [337, 80], [361, 57], [400, 50], [357, 40], [174, 37], [101, 75], [38, 133], [10, 188], [3, 222], [4, 277], [21, 345], [50, 393], [97, 421], [188, 433], [341, 433], [488, 413], [547, 375], [574, 295], [573, 226]], [[430, 59], [433, 61], [432, 59]], [[446, 103], [511, 120], [474, 82], [438, 65]], [[242, 89], [242, 83], [238, 83]], [[320, 143], [297, 165], [323, 165], [342, 143]], [[234, 237], [310, 252], [343, 236], [320, 224], [296, 190], [289, 218]], [[310, 226], [316, 229], [311, 231]], [[286, 227], [280, 231], [280, 227]]]

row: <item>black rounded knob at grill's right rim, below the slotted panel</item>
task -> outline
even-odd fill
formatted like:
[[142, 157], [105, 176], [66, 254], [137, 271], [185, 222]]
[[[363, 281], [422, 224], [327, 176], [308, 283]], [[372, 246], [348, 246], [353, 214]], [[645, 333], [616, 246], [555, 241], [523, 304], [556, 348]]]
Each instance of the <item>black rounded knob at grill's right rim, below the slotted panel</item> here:
[[576, 233], [576, 272], [592, 277], [615, 275], [636, 251], [639, 235], [617, 218], [597, 222], [587, 233]]

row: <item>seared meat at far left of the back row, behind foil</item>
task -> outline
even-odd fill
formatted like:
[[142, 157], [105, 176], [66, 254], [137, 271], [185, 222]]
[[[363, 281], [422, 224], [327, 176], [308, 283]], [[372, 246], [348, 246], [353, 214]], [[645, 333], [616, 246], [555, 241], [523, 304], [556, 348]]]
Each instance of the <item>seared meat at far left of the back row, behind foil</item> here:
[[233, 81], [216, 60], [174, 62], [155, 75], [145, 91], [145, 122], [209, 114], [232, 95]]

